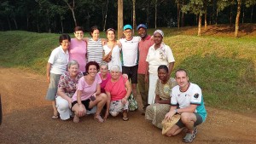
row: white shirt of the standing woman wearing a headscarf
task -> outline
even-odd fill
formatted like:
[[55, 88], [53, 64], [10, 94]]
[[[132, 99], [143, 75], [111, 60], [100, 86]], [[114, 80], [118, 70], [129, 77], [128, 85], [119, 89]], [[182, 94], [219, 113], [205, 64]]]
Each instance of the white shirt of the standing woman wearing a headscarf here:
[[175, 60], [172, 55], [172, 49], [162, 43], [158, 49], [154, 49], [154, 44], [148, 49], [146, 61], [148, 61], [148, 72], [157, 74], [157, 69], [160, 65], [168, 66], [169, 63]]

